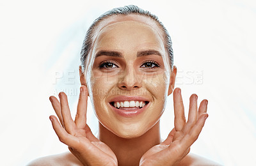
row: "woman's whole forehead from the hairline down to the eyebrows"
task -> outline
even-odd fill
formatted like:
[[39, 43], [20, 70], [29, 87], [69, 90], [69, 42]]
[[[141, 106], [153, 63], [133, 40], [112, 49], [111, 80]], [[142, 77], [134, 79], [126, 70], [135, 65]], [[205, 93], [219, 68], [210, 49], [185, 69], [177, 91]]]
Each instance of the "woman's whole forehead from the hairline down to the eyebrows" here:
[[[93, 33], [93, 52], [105, 47], [154, 47], [164, 49], [163, 35], [156, 21], [143, 15], [113, 15], [100, 21]], [[136, 40], [136, 42], [134, 42]], [[164, 54], [164, 52], [163, 52]]]

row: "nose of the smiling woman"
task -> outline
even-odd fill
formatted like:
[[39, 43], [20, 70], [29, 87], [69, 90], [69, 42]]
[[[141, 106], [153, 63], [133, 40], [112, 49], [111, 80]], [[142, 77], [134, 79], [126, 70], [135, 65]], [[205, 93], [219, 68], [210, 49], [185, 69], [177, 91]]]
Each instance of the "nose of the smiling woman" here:
[[141, 81], [139, 75], [136, 73], [134, 68], [127, 66], [125, 71], [120, 76], [118, 87], [123, 90], [134, 90], [141, 87]]

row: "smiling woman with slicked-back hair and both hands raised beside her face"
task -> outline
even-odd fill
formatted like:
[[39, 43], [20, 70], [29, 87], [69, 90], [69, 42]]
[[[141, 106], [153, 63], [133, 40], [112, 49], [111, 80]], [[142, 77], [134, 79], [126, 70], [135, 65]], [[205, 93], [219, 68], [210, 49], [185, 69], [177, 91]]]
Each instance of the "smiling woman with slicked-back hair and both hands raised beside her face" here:
[[[67, 95], [50, 97], [52, 126], [70, 152], [29, 165], [218, 165], [189, 153], [208, 117], [207, 100], [192, 94], [188, 121], [174, 91], [172, 41], [155, 15], [137, 6], [108, 11], [93, 22], [81, 52], [81, 93], [75, 121]], [[100, 92], [100, 93], [99, 93]], [[159, 119], [173, 93], [175, 128], [161, 141]], [[99, 137], [86, 125], [87, 98], [99, 119]]]

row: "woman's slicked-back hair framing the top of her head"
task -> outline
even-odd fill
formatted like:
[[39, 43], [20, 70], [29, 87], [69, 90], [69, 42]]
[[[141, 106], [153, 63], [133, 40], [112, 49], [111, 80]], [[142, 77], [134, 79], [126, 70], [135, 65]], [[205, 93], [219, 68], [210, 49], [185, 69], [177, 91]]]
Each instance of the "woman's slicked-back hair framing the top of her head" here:
[[135, 5], [128, 5], [120, 8], [113, 8], [112, 10], [106, 11], [106, 13], [100, 15], [96, 20], [93, 21], [92, 25], [89, 27], [88, 31], [86, 32], [86, 36], [83, 41], [83, 46], [81, 50], [81, 66], [82, 66], [82, 72], [84, 72], [84, 66], [86, 57], [90, 53], [90, 50], [92, 49], [92, 43], [93, 43], [93, 34], [97, 26], [99, 26], [99, 23], [101, 20], [107, 19], [108, 17], [111, 17], [113, 15], [129, 15], [129, 14], [138, 14], [143, 15], [145, 17], [150, 17], [152, 20], [156, 21], [158, 23], [158, 26], [160, 27], [161, 31], [163, 31], [163, 37], [164, 37], [164, 47], [166, 49], [166, 52], [168, 52], [168, 55], [170, 57], [170, 66], [173, 70], [173, 49], [172, 49], [172, 40], [170, 37], [170, 34], [168, 33], [167, 29], [164, 27], [163, 23], [159, 21], [158, 17], [149, 11], [145, 11], [138, 6]]

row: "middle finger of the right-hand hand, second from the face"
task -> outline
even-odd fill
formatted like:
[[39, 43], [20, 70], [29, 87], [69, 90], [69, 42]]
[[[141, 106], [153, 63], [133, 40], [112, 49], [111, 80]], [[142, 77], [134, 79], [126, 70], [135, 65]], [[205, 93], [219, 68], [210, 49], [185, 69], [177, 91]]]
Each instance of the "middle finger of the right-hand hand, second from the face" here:
[[196, 94], [192, 94], [189, 98], [188, 126], [190, 128], [193, 127], [198, 118], [197, 98]]

